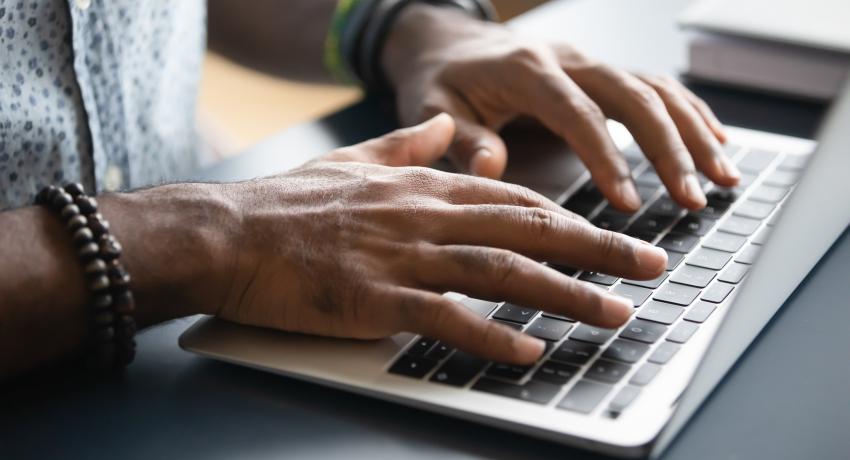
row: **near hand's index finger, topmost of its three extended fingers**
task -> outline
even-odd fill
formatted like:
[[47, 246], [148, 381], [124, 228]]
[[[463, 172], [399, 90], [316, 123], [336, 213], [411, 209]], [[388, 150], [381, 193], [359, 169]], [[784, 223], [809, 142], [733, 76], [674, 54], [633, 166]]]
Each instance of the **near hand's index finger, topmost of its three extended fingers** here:
[[458, 205], [439, 211], [437, 244], [487, 246], [536, 260], [629, 279], [652, 279], [667, 267], [664, 250], [540, 208]]

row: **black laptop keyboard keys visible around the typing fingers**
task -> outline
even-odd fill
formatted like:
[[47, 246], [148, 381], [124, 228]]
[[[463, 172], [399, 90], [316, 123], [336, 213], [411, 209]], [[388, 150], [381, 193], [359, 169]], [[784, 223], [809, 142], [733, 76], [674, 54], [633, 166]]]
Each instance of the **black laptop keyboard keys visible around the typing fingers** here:
[[589, 181], [563, 207], [664, 248], [666, 273], [638, 281], [551, 266], [630, 299], [632, 320], [602, 329], [529, 306], [467, 297], [462, 302], [480, 316], [543, 339], [543, 357], [530, 366], [496, 363], [417, 337], [388, 372], [581, 414], [616, 417], [626, 410], [747, 275], [807, 157], [727, 146], [741, 182], [721, 188], [700, 176], [708, 205], [687, 212], [670, 199], [636, 145], [624, 154], [644, 201], [640, 211], [617, 211]]

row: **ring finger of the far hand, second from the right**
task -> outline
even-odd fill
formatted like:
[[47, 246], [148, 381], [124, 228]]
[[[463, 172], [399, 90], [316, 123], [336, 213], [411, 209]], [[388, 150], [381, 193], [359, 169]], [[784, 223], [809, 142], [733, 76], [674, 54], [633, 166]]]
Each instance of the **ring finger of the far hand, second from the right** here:
[[697, 168], [714, 183], [735, 186], [741, 174], [723, 153], [717, 138], [694, 105], [666, 79], [640, 77], [661, 96]]

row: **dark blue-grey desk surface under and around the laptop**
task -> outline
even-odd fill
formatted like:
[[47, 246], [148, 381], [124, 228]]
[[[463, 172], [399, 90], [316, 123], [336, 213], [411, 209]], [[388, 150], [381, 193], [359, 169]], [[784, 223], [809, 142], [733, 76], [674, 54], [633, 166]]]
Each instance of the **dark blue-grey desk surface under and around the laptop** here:
[[[575, 0], [516, 23], [616, 64], [682, 68], [683, 1]], [[556, 32], [557, 31], [557, 32]], [[730, 124], [811, 136], [822, 108], [698, 88]], [[268, 174], [393, 127], [361, 104], [282, 133], [201, 177]], [[850, 236], [810, 274], [668, 450], [670, 459], [848, 458]], [[598, 458], [183, 352], [193, 319], [151, 328], [126, 375], [54, 373], [0, 387], [0, 457]]]

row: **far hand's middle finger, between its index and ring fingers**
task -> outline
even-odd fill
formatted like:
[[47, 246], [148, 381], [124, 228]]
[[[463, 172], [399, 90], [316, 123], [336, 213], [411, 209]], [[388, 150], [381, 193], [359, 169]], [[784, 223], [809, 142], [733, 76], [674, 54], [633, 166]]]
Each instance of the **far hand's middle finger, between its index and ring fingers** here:
[[691, 209], [705, 206], [691, 154], [652, 87], [603, 65], [574, 71], [571, 76], [606, 114], [626, 125], [677, 202]]

